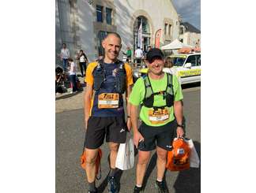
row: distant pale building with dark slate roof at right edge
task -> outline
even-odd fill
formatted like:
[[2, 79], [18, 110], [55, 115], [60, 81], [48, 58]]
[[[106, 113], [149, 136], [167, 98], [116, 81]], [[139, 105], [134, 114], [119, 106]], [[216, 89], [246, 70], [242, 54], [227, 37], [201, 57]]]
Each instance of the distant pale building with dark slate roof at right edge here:
[[180, 24], [180, 35], [179, 40], [182, 43], [186, 43], [190, 46], [200, 47], [201, 44], [201, 32], [198, 28], [195, 28], [188, 22]]

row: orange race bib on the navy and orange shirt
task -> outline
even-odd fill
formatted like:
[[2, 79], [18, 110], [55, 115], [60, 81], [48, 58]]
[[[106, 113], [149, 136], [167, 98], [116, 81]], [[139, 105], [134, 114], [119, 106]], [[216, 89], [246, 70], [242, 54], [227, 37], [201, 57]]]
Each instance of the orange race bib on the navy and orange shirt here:
[[113, 109], [119, 107], [118, 93], [102, 93], [98, 96], [99, 109]]

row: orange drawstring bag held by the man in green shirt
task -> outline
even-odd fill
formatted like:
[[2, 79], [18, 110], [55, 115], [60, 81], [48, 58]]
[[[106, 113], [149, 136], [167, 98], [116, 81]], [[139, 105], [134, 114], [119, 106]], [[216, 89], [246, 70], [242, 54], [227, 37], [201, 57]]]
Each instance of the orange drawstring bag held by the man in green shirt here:
[[190, 169], [190, 147], [183, 138], [174, 139], [173, 149], [168, 151], [166, 168], [171, 171]]

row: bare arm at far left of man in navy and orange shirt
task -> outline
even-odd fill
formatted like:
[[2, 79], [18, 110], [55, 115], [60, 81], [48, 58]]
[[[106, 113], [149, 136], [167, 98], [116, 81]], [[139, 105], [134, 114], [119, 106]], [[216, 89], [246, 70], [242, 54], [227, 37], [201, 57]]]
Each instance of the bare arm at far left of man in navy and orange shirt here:
[[90, 117], [91, 109], [91, 99], [92, 99], [92, 86], [90, 84], [86, 85], [84, 104], [85, 104], [85, 129], [87, 129], [88, 118]]

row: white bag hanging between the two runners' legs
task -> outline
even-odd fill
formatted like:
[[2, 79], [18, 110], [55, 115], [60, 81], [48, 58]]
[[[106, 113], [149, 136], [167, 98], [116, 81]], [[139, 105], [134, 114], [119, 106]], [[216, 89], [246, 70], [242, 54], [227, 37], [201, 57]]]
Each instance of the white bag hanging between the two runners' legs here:
[[126, 170], [134, 167], [134, 142], [127, 136], [126, 143], [120, 143], [115, 167]]

